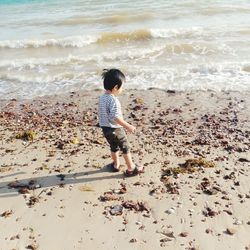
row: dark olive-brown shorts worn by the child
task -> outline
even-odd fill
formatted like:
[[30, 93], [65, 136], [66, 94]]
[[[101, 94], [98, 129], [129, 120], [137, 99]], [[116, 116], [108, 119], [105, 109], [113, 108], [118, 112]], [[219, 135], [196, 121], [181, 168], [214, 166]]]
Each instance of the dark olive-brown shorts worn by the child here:
[[129, 142], [123, 128], [102, 127], [103, 134], [107, 139], [111, 152], [122, 151], [123, 154], [129, 152]]

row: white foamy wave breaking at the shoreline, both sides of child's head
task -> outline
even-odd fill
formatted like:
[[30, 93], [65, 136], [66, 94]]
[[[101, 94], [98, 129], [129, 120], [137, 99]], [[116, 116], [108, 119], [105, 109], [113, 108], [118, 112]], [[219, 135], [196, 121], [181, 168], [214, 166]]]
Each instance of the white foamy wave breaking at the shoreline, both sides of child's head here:
[[[201, 64], [175, 67], [142, 67], [127, 65], [122, 68], [126, 74], [127, 89], [172, 89], [177, 91], [231, 90], [250, 91], [250, 62], [244, 64]], [[65, 71], [63, 73], [37, 76], [37, 74], [1, 74], [0, 98], [32, 98], [39, 95], [53, 95], [79, 89], [102, 88], [101, 69], [97, 71]]]

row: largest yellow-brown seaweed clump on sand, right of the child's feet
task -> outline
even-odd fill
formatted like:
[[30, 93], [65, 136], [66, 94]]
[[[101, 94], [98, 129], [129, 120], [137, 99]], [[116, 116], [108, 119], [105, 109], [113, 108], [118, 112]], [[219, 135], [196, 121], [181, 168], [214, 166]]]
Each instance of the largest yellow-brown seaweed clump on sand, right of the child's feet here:
[[215, 164], [203, 158], [188, 159], [185, 163], [179, 164], [177, 168], [168, 168], [163, 170], [163, 176], [177, 176], [179, 174], [191, 174], [202, 168], [213, 168]]

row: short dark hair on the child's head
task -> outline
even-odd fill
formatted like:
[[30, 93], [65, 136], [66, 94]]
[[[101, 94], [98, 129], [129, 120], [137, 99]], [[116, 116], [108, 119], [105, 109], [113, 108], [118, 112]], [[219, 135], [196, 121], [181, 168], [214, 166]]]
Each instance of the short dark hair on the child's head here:
[[125, 75], [119, 69], [104, 69], [102, 79], [104, 89], [112, 90], [116, 85], [119, 89], [125, 81]]

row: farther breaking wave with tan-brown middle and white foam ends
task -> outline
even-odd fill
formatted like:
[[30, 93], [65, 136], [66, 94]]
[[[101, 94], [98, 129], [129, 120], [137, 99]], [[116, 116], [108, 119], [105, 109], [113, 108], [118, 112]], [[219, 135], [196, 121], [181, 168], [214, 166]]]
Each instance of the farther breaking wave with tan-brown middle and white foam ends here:
[[5, 40], [0, 41], [0, 48], [27, 49], [40, 47], [76, 47], [81, 48], [87, 45], [122, 43], [133, 41], [146, 41], [151, 39], [164, 38], [190, 38], [199, 37], [204, 34], [202, 28], [179, 28], [179, 29], [140, 29], [131, 32], [110, 32], [100, 35], [69, 36], [64, 38], [51, 38], [44, 40]]

